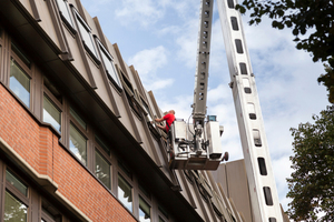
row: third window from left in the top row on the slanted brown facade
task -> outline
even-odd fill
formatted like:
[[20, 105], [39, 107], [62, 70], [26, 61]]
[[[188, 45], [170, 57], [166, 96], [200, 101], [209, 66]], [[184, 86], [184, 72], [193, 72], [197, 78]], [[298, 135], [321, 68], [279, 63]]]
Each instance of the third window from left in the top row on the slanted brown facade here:
[[114, 65], [114, 62], [112, 62], [112, 57], [107, 51], [107, 49], [102, 46], [101, 42], [99, 42], [99, 48], [100, 48], [100, 51], [101, 51], [101, 57], [102, 57], [102, 61], [104, 61], [104, 64], [105, 64], [105, 69], [106, 69], [108, 79], [111, 82], [116, 83], [117, 87], [121, 88], [119, 77], [116, 72], [116, 69], [115, 69], [115, 65]]

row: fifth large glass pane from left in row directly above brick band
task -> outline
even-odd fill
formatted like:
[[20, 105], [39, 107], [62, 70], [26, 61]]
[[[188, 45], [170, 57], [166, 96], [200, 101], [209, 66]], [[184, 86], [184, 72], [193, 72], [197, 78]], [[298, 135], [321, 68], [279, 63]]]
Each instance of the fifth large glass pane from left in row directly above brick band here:
[[118, 199], [132, 212], [132, 188], [121, 175], [118, 175]]

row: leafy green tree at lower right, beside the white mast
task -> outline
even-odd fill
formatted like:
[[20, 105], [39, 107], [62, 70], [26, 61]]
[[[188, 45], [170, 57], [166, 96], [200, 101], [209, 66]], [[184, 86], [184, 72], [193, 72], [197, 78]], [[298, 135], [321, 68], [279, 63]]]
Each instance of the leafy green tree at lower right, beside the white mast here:
[[313, 120], [291, 129], [294, 172], [287, 179], [287, 213], [295, 221], [334, 221], [334, 105]]

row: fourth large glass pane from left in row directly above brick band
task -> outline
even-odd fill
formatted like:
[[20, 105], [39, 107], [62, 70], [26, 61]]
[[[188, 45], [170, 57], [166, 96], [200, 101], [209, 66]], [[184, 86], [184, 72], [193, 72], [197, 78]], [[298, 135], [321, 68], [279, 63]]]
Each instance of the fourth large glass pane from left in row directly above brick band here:
[[110, 186], [110, 164], [101, 157], [99, 152], [95, 152], [96, 176], [109, 189]]

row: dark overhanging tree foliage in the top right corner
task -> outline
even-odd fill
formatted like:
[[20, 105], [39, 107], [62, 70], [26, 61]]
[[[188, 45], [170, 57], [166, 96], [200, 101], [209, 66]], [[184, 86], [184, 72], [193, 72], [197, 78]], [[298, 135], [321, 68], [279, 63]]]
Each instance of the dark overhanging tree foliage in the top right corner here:
[[310, 52], [314, 62], [324, 62], [326, 73], [317, 81], [334, 103], [334, 0], [244, 0], [236, 9], [250, 11], [250, 26], [267, 16], [273, 28], [291, 28], [296, 48]]

